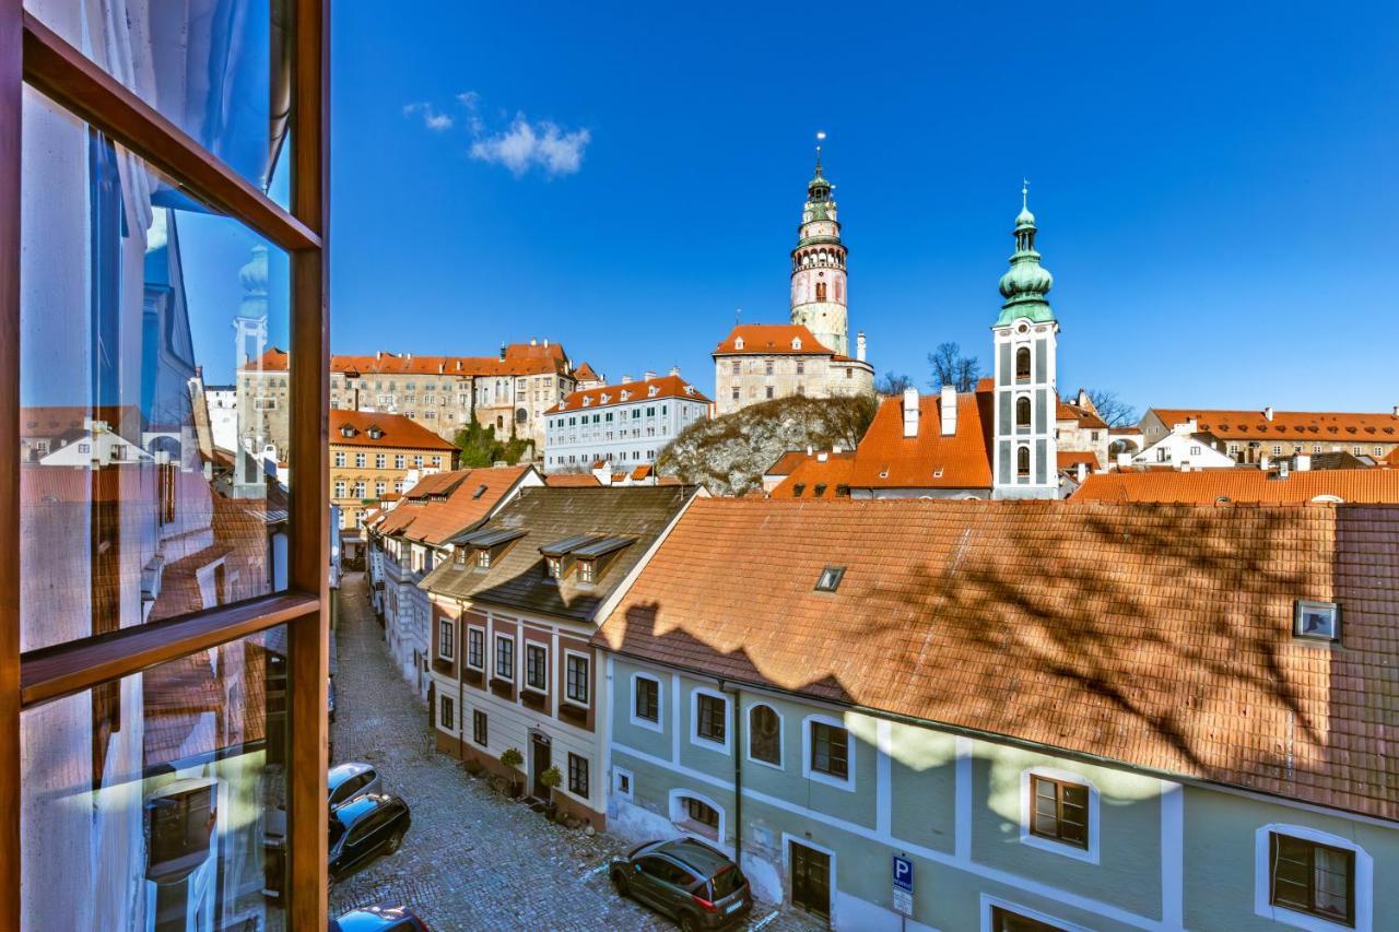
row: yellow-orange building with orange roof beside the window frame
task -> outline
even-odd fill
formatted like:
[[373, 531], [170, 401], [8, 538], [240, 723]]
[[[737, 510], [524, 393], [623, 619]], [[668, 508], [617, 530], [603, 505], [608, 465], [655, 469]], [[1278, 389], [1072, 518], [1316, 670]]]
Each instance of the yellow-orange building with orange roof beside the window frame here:
[[402, 495], [411, 470], [456, 469], [460, 451], [399, 414], [330, 411], [330, 502], [340, 526], [360, 529], [386, 495]]

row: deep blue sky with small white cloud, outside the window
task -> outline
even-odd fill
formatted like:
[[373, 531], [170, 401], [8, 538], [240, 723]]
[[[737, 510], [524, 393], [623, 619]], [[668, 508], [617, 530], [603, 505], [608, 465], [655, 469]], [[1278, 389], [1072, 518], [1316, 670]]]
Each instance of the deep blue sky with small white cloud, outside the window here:
[[1399, 4], [972, 6], [337, 7], [334, 350], [711, 392], [736, 308], [788, 319], [821, 129], [880, 374], [989, 361], [1028, 176], [1062, 392], [1399, 403]]

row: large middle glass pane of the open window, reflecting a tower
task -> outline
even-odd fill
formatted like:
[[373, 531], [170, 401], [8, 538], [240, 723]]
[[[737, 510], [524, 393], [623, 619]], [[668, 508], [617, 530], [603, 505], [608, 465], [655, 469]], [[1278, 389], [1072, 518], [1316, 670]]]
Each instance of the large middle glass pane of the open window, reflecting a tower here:
[[284, 589], [287, 255], [31, 90], [22, 146], [21, 649]]

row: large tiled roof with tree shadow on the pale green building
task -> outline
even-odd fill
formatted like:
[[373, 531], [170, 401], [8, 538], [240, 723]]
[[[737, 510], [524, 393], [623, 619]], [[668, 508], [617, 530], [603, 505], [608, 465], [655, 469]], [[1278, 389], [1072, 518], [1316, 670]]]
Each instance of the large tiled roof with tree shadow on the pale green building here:
[[[1297, 599], [1343, 647], [1293, 637]], [[1399, 819], [1395, 507], [700, 500], [595, 642]]]

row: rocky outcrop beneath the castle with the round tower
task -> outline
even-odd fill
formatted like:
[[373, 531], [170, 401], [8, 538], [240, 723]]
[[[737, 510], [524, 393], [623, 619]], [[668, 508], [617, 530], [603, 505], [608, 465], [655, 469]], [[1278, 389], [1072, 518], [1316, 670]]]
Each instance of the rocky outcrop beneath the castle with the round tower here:
[[681, 431], [656, 460], [662, 476], [677, 476], [715, 495], [741, 495], [762, 486], [762, 473], [792, 449], [855, 449], [874, 418], [873, 397], [783, 397]]

